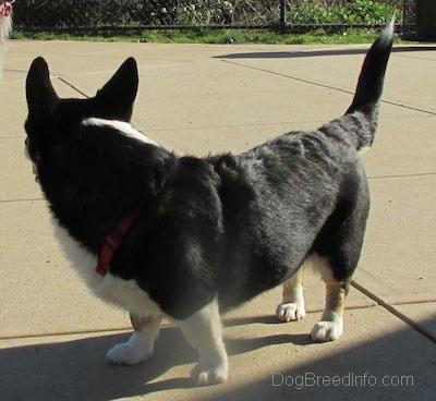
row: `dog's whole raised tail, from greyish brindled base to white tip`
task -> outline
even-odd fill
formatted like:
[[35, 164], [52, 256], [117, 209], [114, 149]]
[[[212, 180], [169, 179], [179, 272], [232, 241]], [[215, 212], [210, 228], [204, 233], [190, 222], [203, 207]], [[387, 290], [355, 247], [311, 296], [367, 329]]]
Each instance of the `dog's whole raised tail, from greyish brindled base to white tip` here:
[[395, 19], [366, 53], [351, 106], [342, 118], [330, 123], [334, 125], [331, 129], [336, 125], [354, 135], [358, 150], [371, 146], [374, 141], [385, 72], [393, 42], [393, 27]]

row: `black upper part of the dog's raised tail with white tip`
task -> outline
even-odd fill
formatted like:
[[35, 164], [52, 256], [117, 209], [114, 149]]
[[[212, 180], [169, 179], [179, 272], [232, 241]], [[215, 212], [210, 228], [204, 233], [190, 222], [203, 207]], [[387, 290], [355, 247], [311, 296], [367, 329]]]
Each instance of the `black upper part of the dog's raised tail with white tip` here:
[[373, 44], [363, 62], [354, 98], [346, 114], [361, 108], [377, 107], [383, 93], [386, 66], [393, 42], [395, 19]]

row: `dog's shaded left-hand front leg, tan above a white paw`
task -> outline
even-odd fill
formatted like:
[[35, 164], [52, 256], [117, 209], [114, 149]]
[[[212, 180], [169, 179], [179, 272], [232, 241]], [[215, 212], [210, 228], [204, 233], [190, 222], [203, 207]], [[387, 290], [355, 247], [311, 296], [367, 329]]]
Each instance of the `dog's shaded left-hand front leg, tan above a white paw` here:
[[117, 344], [107, 354], [110, 363], [134, 365], [153, 355], [155, 341], [159, 335], [161, 316], [130, 315], [134, 333], [128, 342]]

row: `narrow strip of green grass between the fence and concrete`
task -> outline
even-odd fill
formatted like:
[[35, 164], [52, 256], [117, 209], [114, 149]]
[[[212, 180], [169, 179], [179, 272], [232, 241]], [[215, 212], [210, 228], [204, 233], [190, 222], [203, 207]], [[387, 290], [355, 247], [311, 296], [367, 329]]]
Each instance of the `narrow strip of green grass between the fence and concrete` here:
[[278, 34], [267, 29], [149, 29], [131, 35], [84, 35], [64, 33], [15, 32], [15, 39], [88, 40], [88, 41], [142, 41], [171, 44], [366, 44], [372, 42], [380, 29], [347, 29], [329, 34], [323, 29], [310, 34]]

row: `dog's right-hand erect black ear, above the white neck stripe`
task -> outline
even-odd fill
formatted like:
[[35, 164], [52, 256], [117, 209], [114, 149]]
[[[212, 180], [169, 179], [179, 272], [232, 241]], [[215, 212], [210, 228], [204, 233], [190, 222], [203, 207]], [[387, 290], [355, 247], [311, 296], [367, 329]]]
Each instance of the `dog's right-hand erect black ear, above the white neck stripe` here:
[[95, 99], [106, 118], [130, 121], [138, 85], [137, 65], [132, 57], [125, 60]]

